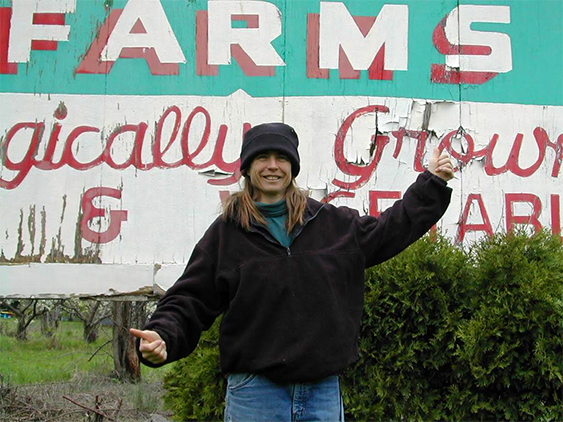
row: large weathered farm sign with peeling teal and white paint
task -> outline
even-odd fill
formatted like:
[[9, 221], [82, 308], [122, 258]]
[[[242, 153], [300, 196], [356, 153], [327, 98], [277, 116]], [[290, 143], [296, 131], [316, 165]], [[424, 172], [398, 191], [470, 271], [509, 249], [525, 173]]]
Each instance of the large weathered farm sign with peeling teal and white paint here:
[[563, 3], [0, 0], [0, 297], [170, 286], [252, 125], [377, 215], [439, 146], [457, 242], [561, 232]]

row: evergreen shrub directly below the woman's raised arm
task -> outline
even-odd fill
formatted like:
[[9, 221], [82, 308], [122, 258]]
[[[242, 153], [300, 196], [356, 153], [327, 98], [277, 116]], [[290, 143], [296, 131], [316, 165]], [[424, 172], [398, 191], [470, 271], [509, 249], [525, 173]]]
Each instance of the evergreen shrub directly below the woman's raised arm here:
[[472, 277], [468, 255], [440, 235], [367, 271], [360, 361], [342, 377], [347, 420], [452, 419]]

